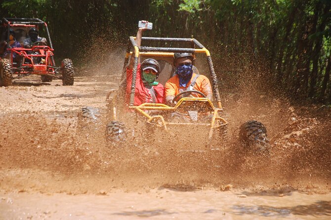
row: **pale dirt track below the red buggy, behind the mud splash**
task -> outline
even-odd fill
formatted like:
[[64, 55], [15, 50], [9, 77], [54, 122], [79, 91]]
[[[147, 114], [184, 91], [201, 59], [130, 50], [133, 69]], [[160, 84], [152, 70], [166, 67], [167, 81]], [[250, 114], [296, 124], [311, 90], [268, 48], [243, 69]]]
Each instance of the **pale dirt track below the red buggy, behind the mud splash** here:
[[12, 87], [0, 88], [0, 114], [35, 111], [57, 116], [77, 112], [86, 105], [105, 108], [106, 94], [117, 86], [117, 79], [78, 76], [74, 86], [62, 86], [61, 80], [49, 83], [41, 82], [40, 76], [25, 77], [15, 80]]

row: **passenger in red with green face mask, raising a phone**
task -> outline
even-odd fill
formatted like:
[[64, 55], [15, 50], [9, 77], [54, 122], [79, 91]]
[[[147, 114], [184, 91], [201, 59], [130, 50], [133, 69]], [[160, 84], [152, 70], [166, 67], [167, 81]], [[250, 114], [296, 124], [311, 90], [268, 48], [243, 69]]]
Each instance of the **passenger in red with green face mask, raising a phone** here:
[[[143, 21], [148, 23], [148, 21]], [[147, 28], [139, 28], [135, 42], [138, 46], [141, 44], [142, 33]], [[131, 82], [133, 72], [134, 53], [132, 53], [129, 65], [126, 68], [126, 103], [129, 103], [131, 94]], [[163, 103], [164, 102], [164, 86], [157, 82], [156, 79], [160, 74], [160, 64], [154, 59], [146, 59], [140, 64], [138, 58], [138, 67], [136, 74], [136, 86], [134, 95], [134, 105], [138, 106], [143, 103]]]

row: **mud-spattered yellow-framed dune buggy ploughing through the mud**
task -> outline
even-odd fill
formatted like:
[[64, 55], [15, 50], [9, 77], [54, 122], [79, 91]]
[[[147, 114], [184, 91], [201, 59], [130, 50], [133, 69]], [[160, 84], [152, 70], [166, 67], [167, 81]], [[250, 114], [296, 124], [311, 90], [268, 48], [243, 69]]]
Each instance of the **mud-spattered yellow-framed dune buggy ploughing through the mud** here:
[[[219, 144], [226, 141], [227, 120], [222, 117], [223, 110], [218, 90], [218, 79], [213, 68], [213, 63], [209, 51], [198, 40], [194, 38], [162, 38], [162, 37], [142, 37], [142, 42], [167, 43], [167, 45], [178, 44], [181, 47], [138, 47], [134, 37], [129, 38], [127, 51], [124, 59], [124, 68], [119, 89], [109, 92], [108, 110], [110, 112], [110, 122], [106, 127], [106, 139], [111, 145], [125, 145], [132, 142], [133, 139], [150, 135], [151, 131], [160, 129], [163, 134], [170, 135], [172, 131], [180, 131], [182, 140], [190, 140], [192, 137], [198, 137], [199, 142], [203, 141], [207, 146], [217, 148]], [[188, 47], [182, 47], [187, 44]], [[197, 47], [197, 48], [196, 48]], [[131, 51], [133, 49], [133, 52]], [[213, 87], [214, 101], [211, 102], [206, 97], [196, 98], [190, 96], [192, 93], [200, 93], [195, 90], [187, 90], [175, 96], [177, 104], [174, 107], [165, 104], [144, 103], [140, 106], [134, 106], [135, 82], [138, 67], [138, 57], [141, 60], [147, 58], [156, 59], [161, 66], [158, 77], [159, 83], [165, 85], [165, 82], [173, 75], [174, 52], [192, 53], [196, 58], [197, 54], [205, 54], [207, 57], [207, 66]], [[126, 66], [130, 54], [134, 56], [134, 65], [132, 73], [132, 82], [130, 88], [129, 105], [124, 103], [126, 91]], [[193, 69], [198, 73], [198, 69]], [[202, 94], [202, 93], [200, 93]], [[203, 95], [203, 94], [202, 94]], [[110, 98], [112, 97], [112, 98]], [[83, 116], [93, 116], [93, 108], [83, 108]], [[141, 122], [143, 128], [135, 129], [135, 125]], [[144, 129], [144, 128], [147, 128]], [[152, 129], [149, 129], [152, 128]], [[148, 132], [146, 132], [148, 131]], [[188, 132], [186, 132], [188, 131]], [[184, 138], [183, 134], [188, 133]], [[257, 147], [256, 150], [266, 149], [268, 146], [267, 131], [261, 122], [251, 120], [244, 123], [240, 129], [240, 135], [247, 146]], [[176, 136], [173, 136], [176, 138]], [[172, 139], [172, 138], [170, 138]], [[165, 139], [165, 142], [170, 140]], [[152, 139], [142, 139], [152, 140]], [[152, 144], [152, 143], [150, 143]], [[203, 146], [206, 146], [203, 145]], [[205, 148], [206, 149], [206, 148]], [[250, 148], [251, 149], [251, 148]]]

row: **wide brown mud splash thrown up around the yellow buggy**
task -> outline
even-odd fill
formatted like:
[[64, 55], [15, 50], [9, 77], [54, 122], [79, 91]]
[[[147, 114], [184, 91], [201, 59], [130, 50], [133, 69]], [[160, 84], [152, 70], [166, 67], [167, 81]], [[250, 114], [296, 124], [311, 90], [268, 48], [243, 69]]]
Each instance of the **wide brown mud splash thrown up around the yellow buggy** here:
[[[239, 112], [232, 111], [229, 121], [234, 122]], [[274, 134], [269, 136], [269, 157], [243, 149], [236, 140], [238, 122], [230, 127], [232, 139], [219, 150], [206, 150], [199, 139], [185, 143], [190, 148], [185, 149], [185, 144], [181, 148], [180, 144], [169, 144], [169, 137], [110, 147], [105, 141], [107, 118], [89, 124], [79, 121], [79, 116], [54, 119], [31, 112], [6, 114], [0, 119], [0, 186], [9, 191], [77, 194], [160, 186], [220, 190], [222, 185], [232, 184], [253, 191], [326, 193], [330, 190], [330, 138], [320, 132], [326, 124], [294, 112], [293, 108], [279, 112], [287, 123], [283, 122], [278, 133], [278, 126], [270, 123], [275, 113], [264, 116], [270, 134]], [[269, 118], [273, 119], [269, 122]]]

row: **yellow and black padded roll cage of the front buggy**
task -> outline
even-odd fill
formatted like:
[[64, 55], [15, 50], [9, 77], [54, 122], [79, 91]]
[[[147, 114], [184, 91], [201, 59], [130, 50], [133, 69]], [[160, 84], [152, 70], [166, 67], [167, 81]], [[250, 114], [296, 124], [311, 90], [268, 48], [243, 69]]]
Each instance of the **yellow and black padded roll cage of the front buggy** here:
[[[47, 26], [46, 26], [47, 27]], [[195, 38], [170, 38], [170, 37], [142, 37], [142, 40], [150, 40], [150, 41], [165, 41], [165, 42], [189, 42], [191, 43], [191, 48], [175, 48], [175, 47], [149, 47], [149, 46], [138, 46], [135, 42], [135, 37], [129, 37], [129, 42], [126, 49], [126, 56], [124, 60], [124, 68], [128, 64], [130, 50], [131, 47], [134, 47], [134, 63], [133, 63], [133, 71], [132, 71], [132, 82], [131, 82], [131, 90], [130, 90], [130, 103], [129, 106], [134, 106], [134, 94], [135, 94], [135, 84], [136, 84], [136, 76], [137, 76], [137, 67], [138, 67], [138, 57], [140, 52], [144, 52], [144, 55], [147, 56], [168, 56], [173, 57], [173, 53], [192, 53], [195, 57], [196, 53], [205, 53], [207, 56], [207, 62], [209, 66], [209, 71], [211, 75], [212, 88], [216, 98], [217, 107], [222, 109], [221, 98], [218, 91], [218, 82], [217, 75], [214, 70], [214, 65], [211, 60], [211, 56], [209, 51], [206, 49], [204, 45], [202, 45]], [[197, 46], [199, 49], [196, 49]], [[133, 55], [133, 52], [132, 52]]]

